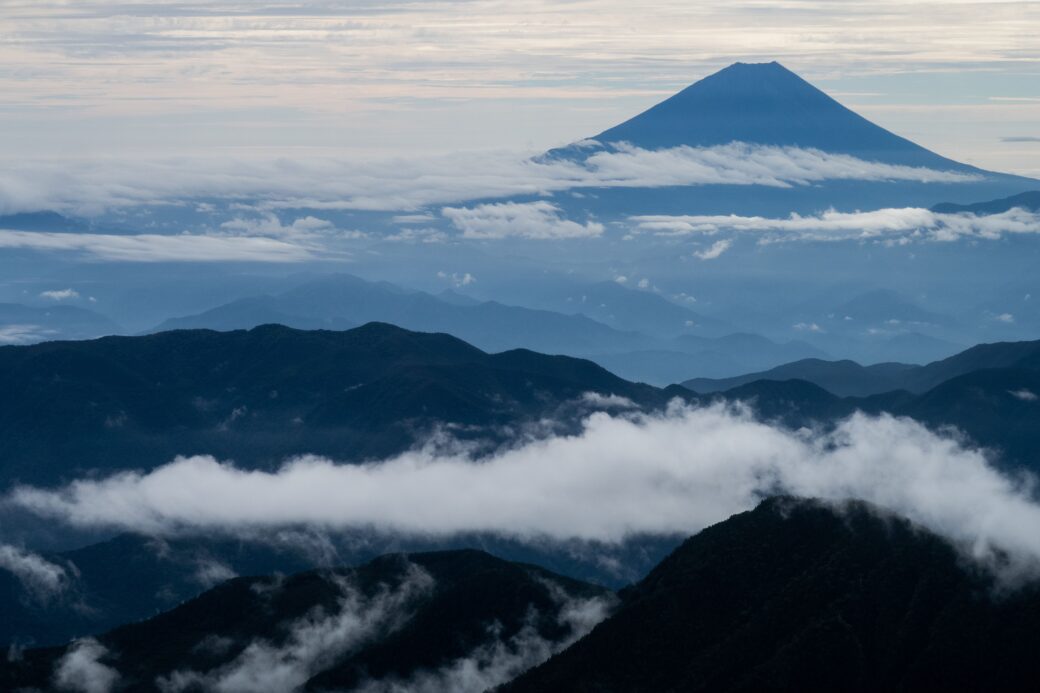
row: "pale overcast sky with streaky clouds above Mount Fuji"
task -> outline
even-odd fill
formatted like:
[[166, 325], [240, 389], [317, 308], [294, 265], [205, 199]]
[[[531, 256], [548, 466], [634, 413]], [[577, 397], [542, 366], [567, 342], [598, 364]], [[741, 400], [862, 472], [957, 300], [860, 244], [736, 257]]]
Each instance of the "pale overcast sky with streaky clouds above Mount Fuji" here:
[[1040, 174], [1040, 2], [0, 0], [23, 159], [541, 150], [778, 59], [970, 163]]

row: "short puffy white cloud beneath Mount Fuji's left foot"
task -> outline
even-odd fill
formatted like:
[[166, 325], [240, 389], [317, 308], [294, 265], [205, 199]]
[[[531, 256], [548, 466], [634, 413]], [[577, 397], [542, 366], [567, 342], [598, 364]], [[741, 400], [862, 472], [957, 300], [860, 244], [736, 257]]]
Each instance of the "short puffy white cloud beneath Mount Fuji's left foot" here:
[[447, 217], [466, 238], [589, 238], [602, 235], [603, 225], [578, 224], [562, 216], [550, 202], [503, 202], [475, 207], [444, 207]]

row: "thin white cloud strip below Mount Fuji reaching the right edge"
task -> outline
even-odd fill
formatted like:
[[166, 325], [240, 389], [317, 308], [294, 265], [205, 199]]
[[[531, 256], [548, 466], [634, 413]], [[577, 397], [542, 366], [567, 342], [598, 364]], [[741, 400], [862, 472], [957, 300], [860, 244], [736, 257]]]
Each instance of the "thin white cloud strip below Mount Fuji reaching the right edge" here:
[[1005, 234], [1040, 233], [1040, 214], [1018, 208], [984, 215], [944, 214], [903, 207], [867, 212], [838, 212], [832, 209], [818, 215], [791, 214], [781, 219], [690, 214], [641, 215], [630, 221], [642, 231], [662, 236], [711, 235], [730, 231], [758, 234], [763, 242], [791, 239], [996, 239]]

